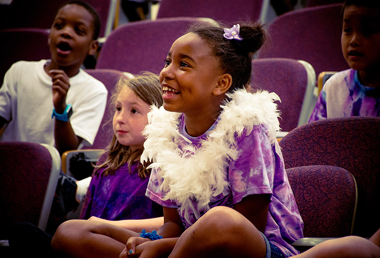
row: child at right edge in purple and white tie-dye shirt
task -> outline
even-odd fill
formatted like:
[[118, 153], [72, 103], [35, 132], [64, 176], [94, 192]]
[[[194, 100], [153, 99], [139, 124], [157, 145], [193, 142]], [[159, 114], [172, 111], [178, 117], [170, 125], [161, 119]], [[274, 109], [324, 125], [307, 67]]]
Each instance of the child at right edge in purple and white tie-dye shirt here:
[[349, 0], [343, 5], [342, 52], [351, 69], [326, 81], [309, 122], [380, 116], [379, 5], [372, 0]]

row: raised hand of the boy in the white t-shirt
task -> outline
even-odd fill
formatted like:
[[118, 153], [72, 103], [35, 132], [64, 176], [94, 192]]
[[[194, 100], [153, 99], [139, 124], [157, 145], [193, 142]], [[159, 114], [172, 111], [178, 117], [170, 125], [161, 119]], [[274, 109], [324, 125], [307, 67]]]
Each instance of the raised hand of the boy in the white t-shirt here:
[[66, 95], [70, 87], [69, 77], [63, 70], [50, 70], [53, 81], [53, 104], [55, 111], [62, 114], [66, 108]]

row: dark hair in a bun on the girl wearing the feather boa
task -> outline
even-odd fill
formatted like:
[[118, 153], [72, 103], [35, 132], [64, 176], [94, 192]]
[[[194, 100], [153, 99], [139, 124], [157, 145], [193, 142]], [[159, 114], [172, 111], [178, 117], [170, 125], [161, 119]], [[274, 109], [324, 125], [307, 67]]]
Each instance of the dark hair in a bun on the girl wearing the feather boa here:
[[241, 22], [240, 36], [243, 40], [227, 40], [223, 37], [223, 28], [232, 26], [194, 25], [188, 32], [201, 37], [210, 45], [213, 55], [219, 58], [223, 73], [230, 74], [232, 84], [229, 91], [245, 88], [251, 81], [252, 55], [260, 49], [266, 39], [266, 33], [260, 23]]

